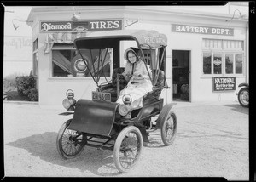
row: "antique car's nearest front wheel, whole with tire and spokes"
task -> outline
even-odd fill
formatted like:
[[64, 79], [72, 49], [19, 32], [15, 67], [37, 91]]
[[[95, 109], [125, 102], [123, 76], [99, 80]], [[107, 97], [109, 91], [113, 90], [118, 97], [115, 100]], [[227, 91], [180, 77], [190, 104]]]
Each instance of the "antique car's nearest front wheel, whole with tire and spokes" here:
[[134, 126], [124, 128], [115, 140], [113, 161], [119, 172], [126, 173], [134, 167], [142, 153], [143, 136]]

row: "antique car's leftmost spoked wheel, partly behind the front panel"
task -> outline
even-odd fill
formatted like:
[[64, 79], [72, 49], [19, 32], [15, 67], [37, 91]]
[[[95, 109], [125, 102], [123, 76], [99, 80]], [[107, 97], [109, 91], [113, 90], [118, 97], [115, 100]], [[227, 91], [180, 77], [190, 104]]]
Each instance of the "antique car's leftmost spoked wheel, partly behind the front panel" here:
[[72, 119], [67, 120], [59, 131], [56, 145], [59, 154], [64, 159], [74, 158], [79, 156], [84, 150], [86, 136], [77, 131], [67, 129]]

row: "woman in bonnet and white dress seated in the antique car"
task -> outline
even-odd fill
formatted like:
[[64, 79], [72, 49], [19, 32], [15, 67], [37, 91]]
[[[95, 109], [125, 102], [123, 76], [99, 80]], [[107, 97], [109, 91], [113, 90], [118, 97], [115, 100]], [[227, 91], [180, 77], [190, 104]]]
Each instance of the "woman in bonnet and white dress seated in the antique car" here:
[[[137, 48], [127, 48], [124, 58], [127, 60], [123, 75], [125, 80], [129, 81], [127, 86], [121, 90], [119, 98], [116, 101], [123, 104], [122, 98], [125, 94], [131, 95], [131, 107], [140, 108], [143, 106], [143, 96], [152, 91], [152, 83], [149, 79], [148, 72], [151, 74], [151, 69], [148, 66], [148, 71], [143, 60], [138, 56]], [[151, 76], [151, 75], [150, 75]]]

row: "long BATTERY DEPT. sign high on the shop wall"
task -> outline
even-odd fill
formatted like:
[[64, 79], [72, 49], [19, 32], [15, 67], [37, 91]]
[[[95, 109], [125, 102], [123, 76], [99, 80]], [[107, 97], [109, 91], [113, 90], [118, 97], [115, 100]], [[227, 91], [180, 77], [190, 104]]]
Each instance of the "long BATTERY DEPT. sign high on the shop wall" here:
[[210, 26], [189, 26], [189, 25], [172, 24], [172, 32], [234, 36], [233, 28], [219, 28], [219, 27], [210, 27]]

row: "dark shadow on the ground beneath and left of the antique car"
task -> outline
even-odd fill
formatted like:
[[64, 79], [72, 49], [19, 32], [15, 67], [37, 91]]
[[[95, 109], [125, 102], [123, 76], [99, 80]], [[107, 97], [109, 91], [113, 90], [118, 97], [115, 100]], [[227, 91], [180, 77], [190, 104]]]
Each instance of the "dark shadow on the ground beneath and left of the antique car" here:
[[100, 176], [116, 176], [119, 171], [113, 162], [113, 151], [101, 151], [85, 146], [80, 156], [74, 159], [62, 159], [56, 148], [57, 133], [36, 134], [7, 145], [27, 150], [32, 156], [67, 168], [78, 168], [81, 172], [90, 171]]

